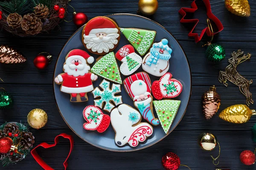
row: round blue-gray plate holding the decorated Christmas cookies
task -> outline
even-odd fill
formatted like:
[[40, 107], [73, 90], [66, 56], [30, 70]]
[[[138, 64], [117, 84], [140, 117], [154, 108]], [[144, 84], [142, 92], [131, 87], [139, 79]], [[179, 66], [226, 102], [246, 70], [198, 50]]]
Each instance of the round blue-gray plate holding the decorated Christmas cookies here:
[[[169, 46], [173, 50], [172, 58], [170, 59], [169, 72], [172, 73], [173, 78], [178, 79], [183, 85], [182, 93], [180, 94], [180, 96], [175, 98], [177, 100], [181, 100], [181, 104], [180, 104], [178, 113], [175, 117], [175, 120], [169, 130], [169, 133], [171, 133], [172, 130], [174, 130], [174, 128], [178, 125], [178, 123], [182, 119], [186, 111], [186, 108], [189, 102], [190, 93], [191, 93], [191, 73], [190, 73], [189, 63], [186, 58], [185, 52], [183, 51], [183, 49], [181, 48], [180, 44], [177, 42], [175, 37], [172, 36], [172, 34], [170, 34], [165, 28], [163, 28], [163, 26], [160, 26], [158, 23], [155, 23], [152, 20], [149, 20], [145, 17], [132, 15], [132, 14], [114, 14], [114, 15], [109, 15], [108, 17], [115, 20], [116, 23], [121, 28], [141, 28], [141, 29], [157, 31], [155, 42], [159, 42], [163, 38], [166, 38], [167, 40], [169, 40]], [[65, 62], [65, 57], [70, 50], [79, 48], [86, 51], [81, 41], [81, 34], [82, 34], [82, 28], [76, 31], [62, 48], [61, 53], [58, 57], [57, 63], [55, 65], [54, 77], [56, 77], [58, 74], [63, 72], [62, 71], [63, 63]], [[124, 35], [122, 35], [121, 33], [121, 39], [120, 39], [119, 45], [116, 47], [114, 52], [117, 52], [119, 48], [127, 44], [129, 44], [128, 40], [126, 40]], [[92, 56], [95, 58], [98, 57], [97, 55], [94, 55], [94, 54]], [[118, 64], [120, 65], [121, 63], [118, 61]], [[137, 71], [139, 72], [143, 70], [140, 67], [140, 69], [138, 69]], [[159, 79], [159, 77], [154, 77], [154, 76], [151, 76], [150, 78], [151, 78], [151, 82]], [[122, 80], [124, 79], [125, 79], [125, 76], [122, 76]], [[102, 82], [101, 77], [99, 77], [99, 79], [96, 82], [93, 82], [94, 87], [99, 86], [100, 82]], [[54, 82], [53, 84], [54, 84], [54, 93], [55, 93], [56, 103], [64, 121], [71, 128], [71, 130], [73, 130], [74, 133], [76, 133], [81, 139], [83, 139], [84, 141], [96, 147], [99, 147], [105, 150], [111, 150], [111, 151], [122, 151], [122, 152], [134, 151], [134, 150], [140, 150], [145, 147], [149, 147], [153, 144], [156, 144], [157, 142], [159, 142], [160, 140], [162, 140], [167, 136], [164, 133], [161, 125], [153, 126], [154, 133], [152, 134], [152, 136], [150, 136], [145, 142], [140, 142], [140, 144], [137, 147], [130, 147], [129, 145], [125, 145], [124, 147], [118, 147], [114, 142], [115, 132], [111, 125], [108, 127], [108, 129], [104, 133], [98, 133], [96, 131], [87, 131], [87, 130], [84, 130], [83, 128], [83, 124], [86, 121], [83, 118], [82, 112], [87, 105], [94, 104], [93, 95], [91, 93], [88, 93], [89, 100], [87, 102], [74, 103], [74, 102], [70, 102], [69, 94], [65, 94], [60, 91], [60, 85], [56, 85]], [[122, 100], [125, 104], [131, 105], [132, 107], [134, 107], [133, 101], [126, 93], [123, 85], [122, 85], [121, 95], [122, 95]]]

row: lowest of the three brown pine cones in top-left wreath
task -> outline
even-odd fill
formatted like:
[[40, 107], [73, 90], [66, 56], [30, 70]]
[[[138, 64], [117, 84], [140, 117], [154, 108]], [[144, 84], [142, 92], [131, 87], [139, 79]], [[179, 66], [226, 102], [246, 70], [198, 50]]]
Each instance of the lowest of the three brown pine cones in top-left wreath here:
[[35, 35], [42, 30], [43, 23], [34, 13], [24, 15], [21, 20], [21, 28], [26, 34]]

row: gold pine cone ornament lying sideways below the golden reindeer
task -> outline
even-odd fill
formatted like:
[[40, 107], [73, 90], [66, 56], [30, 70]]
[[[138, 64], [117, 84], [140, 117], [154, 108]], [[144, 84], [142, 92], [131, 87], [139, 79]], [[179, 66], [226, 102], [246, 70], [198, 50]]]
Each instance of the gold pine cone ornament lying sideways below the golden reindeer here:
[[252, 115], [256, 115], [256, 111], [251, 110], [247, 105], [233, 105], [219, 114], [219, 117], [230, 123], [246, 123]]

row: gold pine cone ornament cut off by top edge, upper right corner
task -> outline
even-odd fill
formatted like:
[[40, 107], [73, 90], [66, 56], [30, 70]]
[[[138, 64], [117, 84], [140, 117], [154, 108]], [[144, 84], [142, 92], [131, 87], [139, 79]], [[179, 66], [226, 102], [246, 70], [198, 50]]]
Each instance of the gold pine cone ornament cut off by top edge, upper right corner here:
[[250, 5], [248, 0], [225, 0], [228, 11], [240, 17], [250, 16]]

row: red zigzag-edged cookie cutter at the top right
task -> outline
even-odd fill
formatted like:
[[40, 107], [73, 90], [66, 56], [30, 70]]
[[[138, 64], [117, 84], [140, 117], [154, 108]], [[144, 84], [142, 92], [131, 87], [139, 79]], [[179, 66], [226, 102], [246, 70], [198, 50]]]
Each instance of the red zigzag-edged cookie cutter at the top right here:
[[[213, 35], [215, 35], [215, 34], [219, 33], [220, 31], [222, 31], [224, 27], [223, 27], [221, 21], [214, 14], [212, 14], [210, 1], [209, 0], [203, 0], [203, 1], [206, 6], [207, 17], [210, 20], [212, 20], [218, 28], [218, 31], [213, 33]], [[198, 9], [198, 7], [195, 4], [195, 0], [192, 2], [191, 6], [192, 6], [192, 8], [180, 8], [179, 13], [183, 16], [180, 20], [180, 23], [195, 23], [195, 26], [196, 26], [199, 22], [198, 19], [184, 19], [187, 12], [194, 13]], [[202, 30], [200, 36], [198, 36], [197, 33], [193, 33], [195, 26], [192, 28], [192, 30], [188, 34], [189, 37], [195, 37], [195, 42], [198, 42], [202, 39], [205, 31], [209, 37], [211, 36], [212, 32], [209, 30], [208, 26]]]

